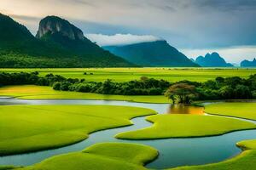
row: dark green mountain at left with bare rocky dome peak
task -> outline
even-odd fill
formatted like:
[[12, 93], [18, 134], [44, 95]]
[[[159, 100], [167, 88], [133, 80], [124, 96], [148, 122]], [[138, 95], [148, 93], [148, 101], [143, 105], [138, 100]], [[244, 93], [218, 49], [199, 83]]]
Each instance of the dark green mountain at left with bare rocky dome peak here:
[[0, 14], [0, 67], [134, 66], [90, 42], [67, 20], [41, 20], [37, 37], [26, 26]]

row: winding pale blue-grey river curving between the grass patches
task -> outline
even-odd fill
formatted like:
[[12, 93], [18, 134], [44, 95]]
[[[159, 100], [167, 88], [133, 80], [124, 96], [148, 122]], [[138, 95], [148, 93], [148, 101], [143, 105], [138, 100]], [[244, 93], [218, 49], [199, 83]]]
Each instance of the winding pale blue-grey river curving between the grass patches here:
[[[0, 105], [129, 105], [153, 109], [160, 114], [166, 112], [176, 112], [167, 104], [144, 104], [128, 101], [113, 100], [84, 100], [84, 99], [12, 99], [0, 98]], [[172, 108], [170, 110], [170, 108]], [[183, 108], [183, 111], [190, 111]], [[247, 121], [243, 120], [242, 121]], [[145, 121], [145, 117], [137, 117], [131, 120], [134, 125], [129, 127], [119, 127], [91, 133], [89, 139], [85, 139], [77, 144], [71, 144], [54, 150], [44, 150], [29, 154], [0, 157], [0, 165], [28, 166], [44, 159], [68, 152], [84, 150], [87, 146], [102, 142], [125, 142], [148, 144], [159, 150], [160, 156], [149, 163], [146, 167], [166, 168], [184, 165], [200, 165], [212, 162], [224, 161], [241, 152], [236, 147], [236, 143], [245, 139], [256, 139], [256, 130], [243, 130], [224, 135], [202, 138], [184, 139], [155, 139], [155, 140], [123, 140], [115, 139], [117, 133], [149, 127], [152, 124]], [[256, 123], [256, 122], [254, 122]]]

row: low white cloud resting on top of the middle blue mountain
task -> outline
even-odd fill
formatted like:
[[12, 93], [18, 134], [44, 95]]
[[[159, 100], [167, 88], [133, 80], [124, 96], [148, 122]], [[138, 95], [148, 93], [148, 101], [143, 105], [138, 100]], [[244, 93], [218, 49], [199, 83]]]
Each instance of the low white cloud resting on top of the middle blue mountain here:
[[103, 34], [86, 34], [85, 37], [89, 38], [92, 42], [96, 42], [100, 46], [127, 45], [139, 42], [154, 42], [161, 39], [159, 37], [154, 37], [150, 35], [138, 36], [132, 34], [115, 34], [111, 36]]

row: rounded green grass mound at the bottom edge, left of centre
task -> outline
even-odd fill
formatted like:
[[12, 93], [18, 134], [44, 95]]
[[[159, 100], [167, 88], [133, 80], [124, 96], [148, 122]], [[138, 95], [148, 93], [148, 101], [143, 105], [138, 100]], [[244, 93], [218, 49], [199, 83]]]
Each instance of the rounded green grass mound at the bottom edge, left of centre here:
[[154, 160], [158, 151], [142, 144], [102, 143], [61, 156], [54, 156], [31, 167], [19, 170], [137, 170], [148, 161]]

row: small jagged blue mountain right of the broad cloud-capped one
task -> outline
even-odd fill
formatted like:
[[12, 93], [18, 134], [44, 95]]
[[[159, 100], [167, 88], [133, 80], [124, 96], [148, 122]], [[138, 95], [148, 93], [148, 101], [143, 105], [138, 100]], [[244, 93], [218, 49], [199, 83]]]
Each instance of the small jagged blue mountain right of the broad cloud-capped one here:
[[232, 67], [230, 63], [219, 56], [218, 53], [206, 54], [205, 57], [199, 56], [195, 59], [195, 63], [205, 67]]

